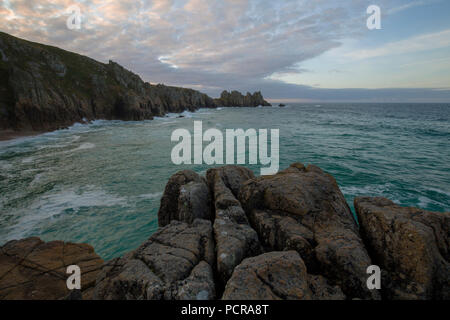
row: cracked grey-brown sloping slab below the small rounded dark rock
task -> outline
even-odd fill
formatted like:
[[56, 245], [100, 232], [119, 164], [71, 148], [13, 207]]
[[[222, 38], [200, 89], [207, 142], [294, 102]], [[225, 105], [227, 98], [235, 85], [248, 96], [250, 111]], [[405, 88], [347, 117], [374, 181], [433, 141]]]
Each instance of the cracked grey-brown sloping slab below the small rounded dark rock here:
[[[214, 297], [211, 223], [191, 225], [172, 221], [137, 250], [106, 263], [98, 276], [94, 297], [108, 300], [160, 300]], [[204, 263], [202, 263], [204, 262]], [[183, 289], [183, 290], [181, 290]], [[207, 291], [206, 295], [203, 291]]]

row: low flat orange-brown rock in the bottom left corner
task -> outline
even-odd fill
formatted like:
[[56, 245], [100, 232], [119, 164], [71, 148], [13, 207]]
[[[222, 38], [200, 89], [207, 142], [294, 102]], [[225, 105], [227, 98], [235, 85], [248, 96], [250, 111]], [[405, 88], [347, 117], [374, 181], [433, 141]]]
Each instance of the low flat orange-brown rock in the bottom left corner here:
[[0, 248], [0, 300], [70, 298], [67, 267], [81, 270], [79, 298], [90, 299], [103, 260], [87, 244], [43, 242], [39, 238], [10, 241]]

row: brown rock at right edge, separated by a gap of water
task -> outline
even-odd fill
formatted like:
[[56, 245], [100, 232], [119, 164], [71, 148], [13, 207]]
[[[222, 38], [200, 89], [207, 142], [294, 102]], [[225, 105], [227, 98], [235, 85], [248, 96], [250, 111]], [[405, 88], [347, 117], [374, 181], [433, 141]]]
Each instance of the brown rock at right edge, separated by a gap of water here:
[[450, 299], [450, 213], [356, 198], [361, 233], [387, 299]]

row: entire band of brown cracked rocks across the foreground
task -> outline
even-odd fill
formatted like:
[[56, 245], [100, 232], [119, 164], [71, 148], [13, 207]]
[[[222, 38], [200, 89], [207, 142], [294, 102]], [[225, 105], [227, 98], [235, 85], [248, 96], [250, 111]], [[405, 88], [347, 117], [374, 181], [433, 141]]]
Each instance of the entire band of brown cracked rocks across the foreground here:
[[[0, 299], [450, 299], [450, 213], [356, 198], [301, 163], [255, 177], [239, 166], [173, 175], [159, 230], [103, 262], [85, 244], [11, 241], [0, 251]], [[65, 267], [82, 272], [78, 295]], [[369, 290], [367, 267], [382, 270]], [[95, 279], [95, 280], [94, 280]]]

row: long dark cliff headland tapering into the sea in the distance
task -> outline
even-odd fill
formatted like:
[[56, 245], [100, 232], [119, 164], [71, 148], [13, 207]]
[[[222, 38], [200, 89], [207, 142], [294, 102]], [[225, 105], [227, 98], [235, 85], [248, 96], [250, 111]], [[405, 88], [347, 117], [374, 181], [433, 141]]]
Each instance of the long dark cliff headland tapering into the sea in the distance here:
[[[51, 131], [95, 119], [144, 120], [218, 106], [270, 105], [260, 92], [213, 99], [199, 91], [150, 84], [109, 61], [0, 32], [0, 130], [4, 136]], [[2, 135], [3, 135], [2, 133]]]

